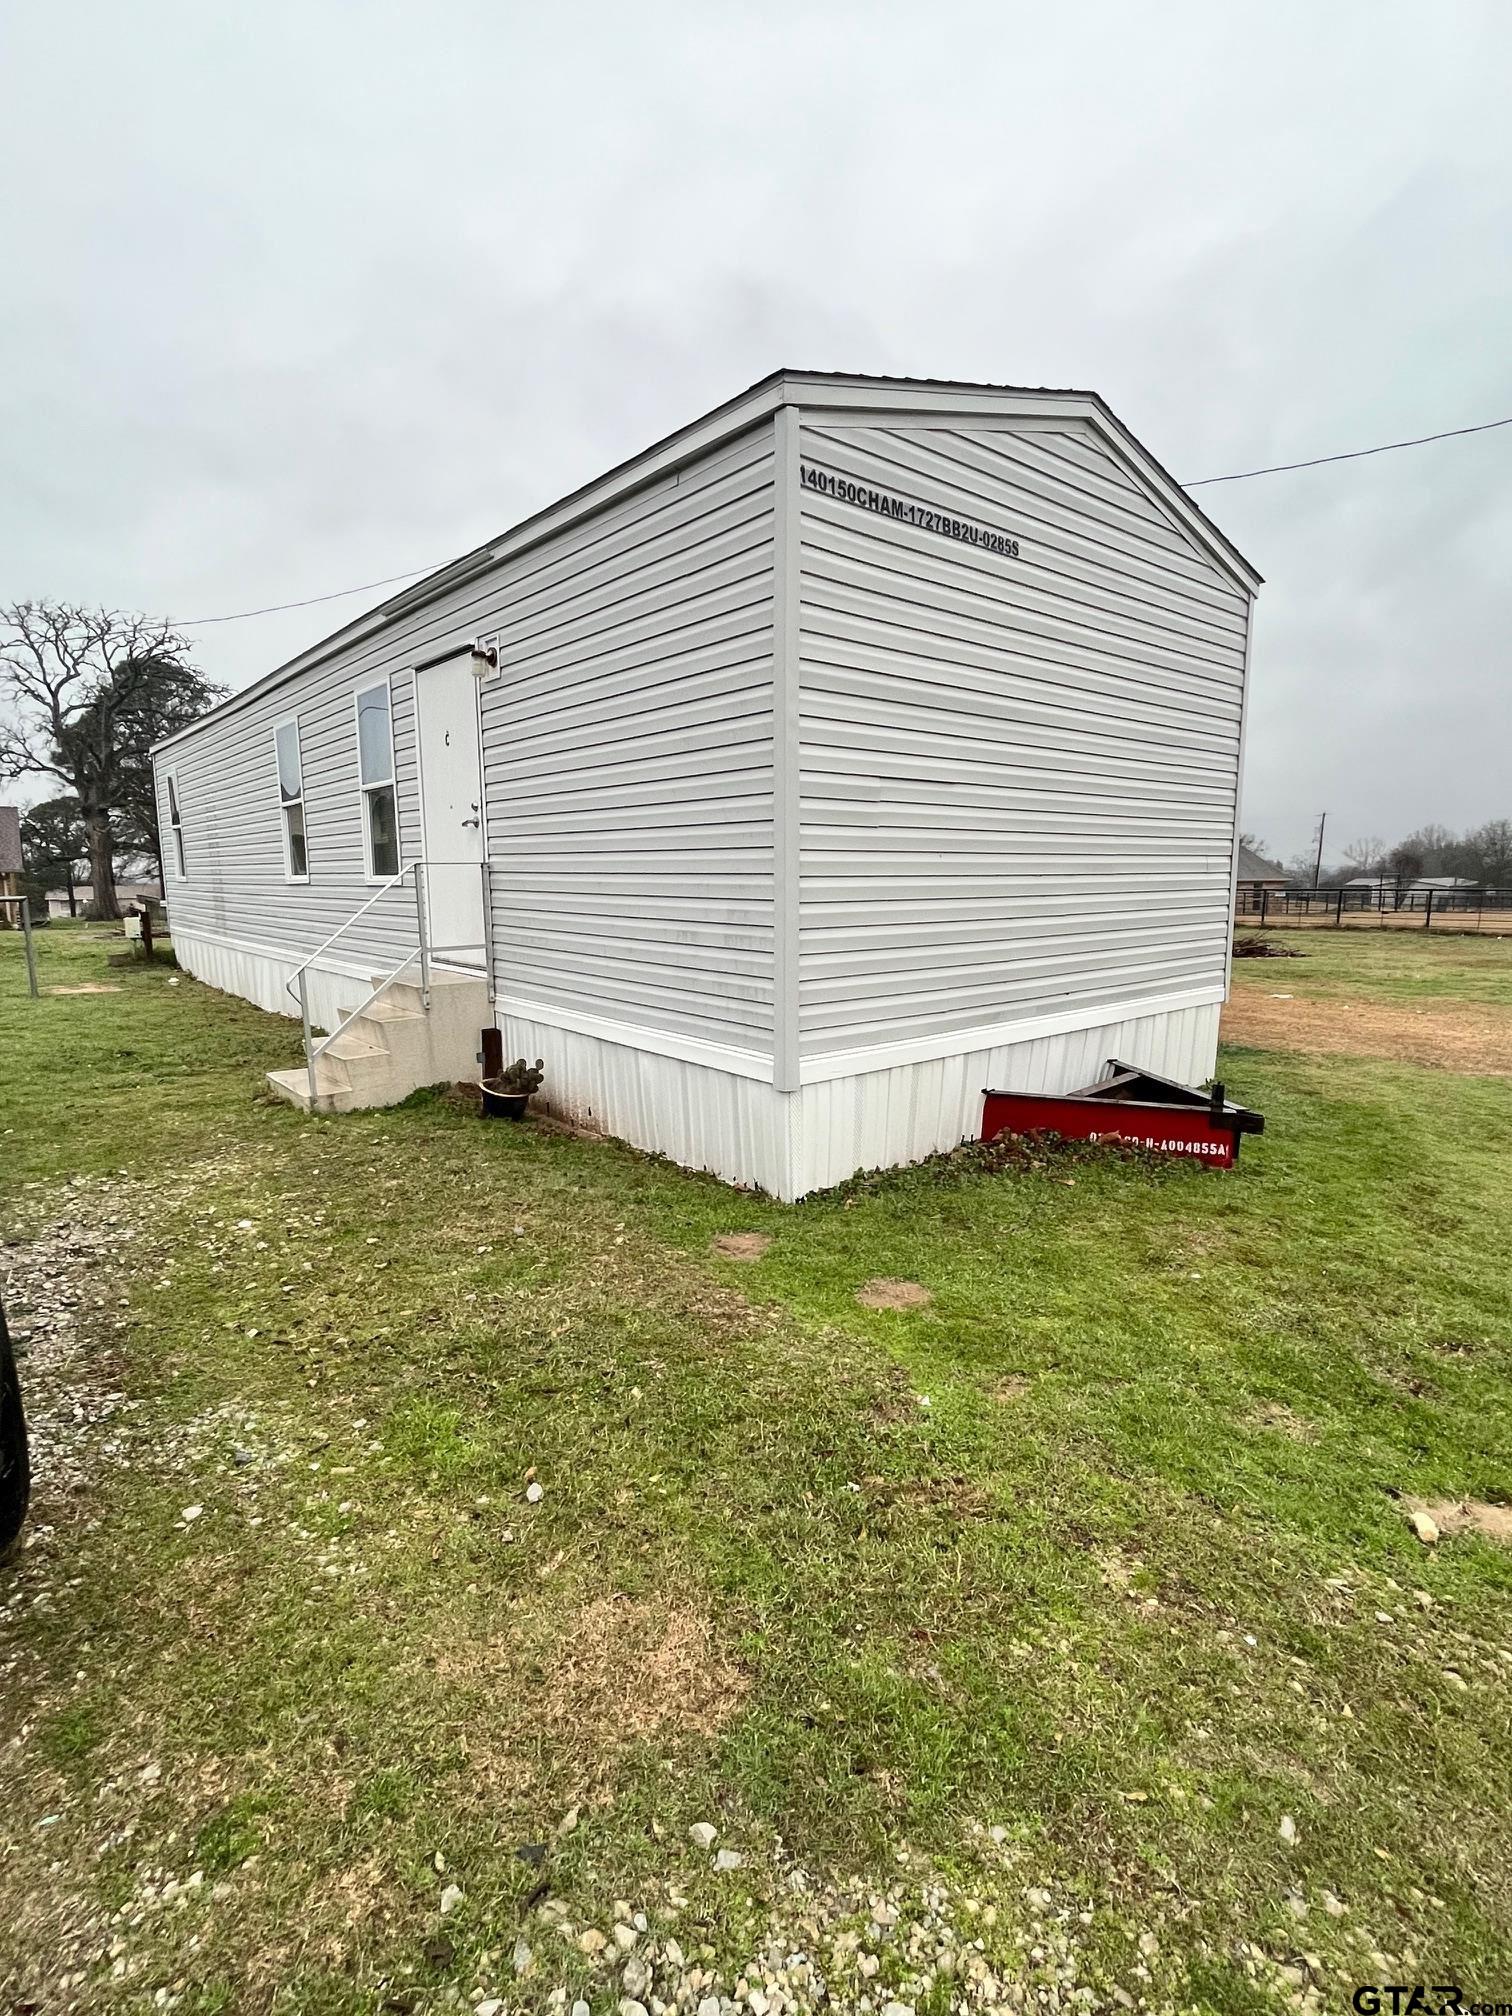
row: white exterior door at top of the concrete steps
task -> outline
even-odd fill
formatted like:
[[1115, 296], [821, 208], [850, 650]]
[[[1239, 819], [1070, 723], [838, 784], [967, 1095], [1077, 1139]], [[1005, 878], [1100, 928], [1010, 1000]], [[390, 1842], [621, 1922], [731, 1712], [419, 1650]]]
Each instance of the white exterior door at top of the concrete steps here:
[[484, 964], [484, 780], [472, 659], [415, 673], [425, 921], [437, 958]]

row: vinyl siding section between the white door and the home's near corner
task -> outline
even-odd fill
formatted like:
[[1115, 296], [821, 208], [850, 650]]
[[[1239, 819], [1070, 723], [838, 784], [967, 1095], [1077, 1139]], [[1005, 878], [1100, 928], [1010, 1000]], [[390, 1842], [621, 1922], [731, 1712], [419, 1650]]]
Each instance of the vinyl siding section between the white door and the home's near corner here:
[[516, 560], [490, 637], [502, 1006], [770, 1056], [770, 423]]

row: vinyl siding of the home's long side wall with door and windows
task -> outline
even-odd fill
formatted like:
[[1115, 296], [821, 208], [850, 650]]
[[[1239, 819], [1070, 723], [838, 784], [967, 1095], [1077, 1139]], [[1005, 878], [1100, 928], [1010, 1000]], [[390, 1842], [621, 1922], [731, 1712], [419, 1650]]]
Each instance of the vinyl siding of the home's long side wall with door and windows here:
[[[766, 421], [179, 736], [159, 790], [171, 762], [206, 804], [206, 873], [171, 893], [173, 927], [302, 958], [373, 895], [355, 710], [381, 681], [413, 861], [413, 665], [490, 635], [500, 996], [770, 1056], [770, 444]], [[268, 740], [294, 708], [306, 885], [268, 818]], [[377, 974], [413, 948], [399, 885], [329, 960]]]

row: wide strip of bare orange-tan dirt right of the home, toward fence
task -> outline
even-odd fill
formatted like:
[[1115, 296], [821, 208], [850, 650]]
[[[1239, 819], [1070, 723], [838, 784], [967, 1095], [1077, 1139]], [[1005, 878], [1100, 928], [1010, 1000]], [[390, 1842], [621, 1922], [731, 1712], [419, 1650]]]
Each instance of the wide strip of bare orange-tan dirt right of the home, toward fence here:
[[1224, 1008], [1224, 1042], [1512, 1077], [1512, 1012], [1490, 1002], [1304, 1000], [1244, 988]]

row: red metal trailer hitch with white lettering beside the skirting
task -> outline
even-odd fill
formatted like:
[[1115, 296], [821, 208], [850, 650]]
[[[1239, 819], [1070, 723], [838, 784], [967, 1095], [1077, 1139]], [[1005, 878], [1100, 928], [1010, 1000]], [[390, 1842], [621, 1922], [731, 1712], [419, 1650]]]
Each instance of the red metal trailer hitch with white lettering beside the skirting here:
[[982, 1139], [1000, 1133], [1056, 1133], [1066, 1141], [1131, 1141], [1161, 1155], [1187, 1155], [1210, 1169], [1230, 1169], [1246, 1133], [1264, 1133], [1264, 1119], [1210, 1093], [1121, 1064], [1079, 1093], [982, 1095]]

